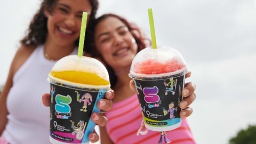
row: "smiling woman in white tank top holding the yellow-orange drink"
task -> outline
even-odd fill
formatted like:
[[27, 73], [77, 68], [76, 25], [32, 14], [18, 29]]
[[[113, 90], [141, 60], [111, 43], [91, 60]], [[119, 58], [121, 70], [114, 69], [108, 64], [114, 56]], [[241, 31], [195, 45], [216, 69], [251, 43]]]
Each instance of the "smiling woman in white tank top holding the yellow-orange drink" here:
[[[57, 60], [77, 54], [82, 12], [90, 13], [89, 19], [93, 20], [97, 9], [97, 0], [42, 1], [28, 33], [21, 39], [1, 92], [1, 139], [12, 144], [50, 143], [49, 108], [42, 105], [42, 95], [50, 91], [47, 75]], [[105, 107], [100, 107], [101, 110], [111, 108], [111, 98], [102, 101]], [[96, 124], [106, 124], [101, 115], [93, 116]], [[91, 133], [89, 138], [95, 142], [99, 136]]]

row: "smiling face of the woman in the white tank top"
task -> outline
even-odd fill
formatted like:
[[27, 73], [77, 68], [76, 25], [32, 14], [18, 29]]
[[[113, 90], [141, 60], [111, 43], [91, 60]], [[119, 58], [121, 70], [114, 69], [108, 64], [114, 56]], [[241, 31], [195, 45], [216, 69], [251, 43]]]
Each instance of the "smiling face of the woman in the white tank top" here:
[[[77, 1], [77, 3], [76, 1], [59, 1], [53, 10], [44, 11], [48, 29], [45, 45], [51, 39], [57, 46], [74, 47], [74, 42], [77, 41], [80, 34], [82, 12], [85, 11], [90, 14], [91, 9], [89, 1]], [[51, 54], [50, 57], [56, 57], [55, 59], [62, 57], [59, 53], [56, 54], [58, 56], [53, 55], [48, 49], [45, 46], [44, 50], [49, 55]]]

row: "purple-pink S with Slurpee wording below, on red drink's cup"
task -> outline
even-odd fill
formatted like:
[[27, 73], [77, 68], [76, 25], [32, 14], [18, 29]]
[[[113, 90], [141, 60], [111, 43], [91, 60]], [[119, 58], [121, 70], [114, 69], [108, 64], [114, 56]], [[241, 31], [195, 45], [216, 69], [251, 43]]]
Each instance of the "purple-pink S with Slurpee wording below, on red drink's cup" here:
[[158, 88], [154, 87], [144, 87], [143, 94], [145, 95], [144, 100], [146, 101], [146, 106], [149, 108], [159, 107], [161, 104], [160, 97], [157, 95]]

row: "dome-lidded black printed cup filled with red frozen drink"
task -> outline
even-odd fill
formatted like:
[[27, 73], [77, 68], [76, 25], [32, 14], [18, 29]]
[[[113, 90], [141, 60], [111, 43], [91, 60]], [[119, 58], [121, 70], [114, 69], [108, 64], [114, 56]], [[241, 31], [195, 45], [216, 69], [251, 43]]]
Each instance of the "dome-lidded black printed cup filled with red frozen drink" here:
[[181, 125], [179, 103], [186, 72], [185, 60], [172, 47], [147, 47], [135, 55], [129, 75], [147, 129], [162, 132]]

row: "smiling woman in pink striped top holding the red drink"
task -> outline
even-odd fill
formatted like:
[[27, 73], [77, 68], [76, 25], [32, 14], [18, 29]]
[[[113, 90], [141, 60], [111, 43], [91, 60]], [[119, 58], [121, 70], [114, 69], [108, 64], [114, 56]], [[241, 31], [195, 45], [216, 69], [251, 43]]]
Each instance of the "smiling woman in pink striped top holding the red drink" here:
[[[98, 57], [107, 66], [111, 87], [115, 91], [113, 108], [106, 113], [108, 123], [106, 127], [100, 127], [101, 143], [157, 143], [160, 134], [144, 131], [145, 126], [141, 123], [142, 108], [136, 92], [130, 90], [129, 85], [132, 60], [147, 46], [148, 39], [143, 37], [136, 25], [131, 25], [116, 14], [103, 14], [93, 26], [94, 35], [91, 37], [90, 49], [93, 56]], [[185, 97], [180, 103], [183, 108], [180, 113], [182, 125], [166, 134], [173, 143], [194, 144], [195, 140], [185, 117], [192, 113], [188, 106], [195, 99], [195, 85], [187, 83], [184, 90], [188, 90], [188, 93], [182, 92]], [[182, 103], [185, 105], [181, 105]], [[158, 143], [162, 142], [164, 141], [160, 140]]]

